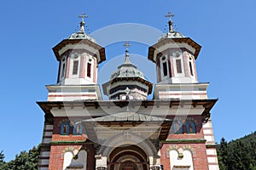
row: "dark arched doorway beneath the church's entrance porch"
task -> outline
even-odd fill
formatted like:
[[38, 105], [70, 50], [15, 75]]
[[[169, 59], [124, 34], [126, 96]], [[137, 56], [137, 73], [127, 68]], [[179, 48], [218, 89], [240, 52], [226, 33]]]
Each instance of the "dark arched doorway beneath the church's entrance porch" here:
[[123, 145], [115, 148], [108, 159], [109, 170], [148, 170], [148, 156], [137, 145]]

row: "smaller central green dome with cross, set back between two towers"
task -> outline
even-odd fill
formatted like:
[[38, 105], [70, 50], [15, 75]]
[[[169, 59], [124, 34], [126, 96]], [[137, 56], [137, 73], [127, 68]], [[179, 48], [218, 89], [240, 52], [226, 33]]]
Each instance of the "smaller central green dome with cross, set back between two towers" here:
[[125, 62], [119, 65], [117, 71], [113, 71], [110, 80], [102, 84], [103, 93], [109, 99], [147, 99], [152, 93], [151, 82], [148, 82], [142, 71], [130, 61], [129, 42], [125, 42]]

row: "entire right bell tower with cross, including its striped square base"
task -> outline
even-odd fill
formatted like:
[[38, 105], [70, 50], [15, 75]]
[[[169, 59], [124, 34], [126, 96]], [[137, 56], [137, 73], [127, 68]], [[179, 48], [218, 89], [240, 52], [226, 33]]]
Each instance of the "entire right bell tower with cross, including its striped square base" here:
[[166, 14], [169, 31], [148, 48], [157, 70], [154, 99], [207, 99], [208, 83], [198, 82], [195, 65], [201, 45], [174, 30], [173, 16]]

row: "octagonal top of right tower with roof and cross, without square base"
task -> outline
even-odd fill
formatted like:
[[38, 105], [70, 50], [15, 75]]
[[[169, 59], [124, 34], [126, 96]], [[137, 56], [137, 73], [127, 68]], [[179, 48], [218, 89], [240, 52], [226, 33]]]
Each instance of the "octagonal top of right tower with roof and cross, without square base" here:
[[201, 46], [182, 33], [174, 31], [171, 12], [169, 31], [154, 46], [149, 48], [148, 59], [157, 64], [158, 83], [195, 83], [198, 82], [195, 68]]

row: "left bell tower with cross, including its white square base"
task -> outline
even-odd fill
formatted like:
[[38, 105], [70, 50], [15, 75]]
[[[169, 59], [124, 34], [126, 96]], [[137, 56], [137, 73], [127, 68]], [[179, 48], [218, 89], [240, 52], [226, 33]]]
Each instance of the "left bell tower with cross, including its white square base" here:
[[57, 83], [47, 86], [49, 101], [102, 99], [97, 85], [98, 64], [106, 59], [105, 48], [84, 31], [84, 13], [80, 29], [58, 43], [53, 51], [59, 62]]

